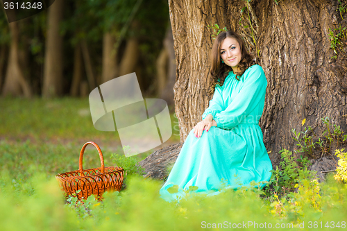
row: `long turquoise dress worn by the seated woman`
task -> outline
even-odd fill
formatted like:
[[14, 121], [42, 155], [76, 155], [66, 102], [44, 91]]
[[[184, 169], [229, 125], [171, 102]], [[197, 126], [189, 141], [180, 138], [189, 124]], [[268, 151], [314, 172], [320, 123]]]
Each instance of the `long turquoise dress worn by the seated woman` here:
[[[204, 130], [200, 138], [194, 136], [194, 129], [189, 132], [159, 191], [164, 200], [180, 200], [189, 186], [198, 187], [197, 193], [214, 195], [222, 188], [270, 180], [272, 164], [259, 126], [267, 80], [260, 65], [249, 67], [239, 79], [230, 71], [223, 86], [216, 86], [202, 119], [212, 114], [217, 127]], [[174, 185], [178, 191], [170, 194], [167, 189]]]

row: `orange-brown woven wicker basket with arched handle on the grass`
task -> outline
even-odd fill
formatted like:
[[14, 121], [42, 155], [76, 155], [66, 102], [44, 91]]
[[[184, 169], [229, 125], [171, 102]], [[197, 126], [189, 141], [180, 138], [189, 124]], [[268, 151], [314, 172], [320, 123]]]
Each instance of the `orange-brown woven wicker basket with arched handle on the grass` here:
[[[92, 144], [99, 152], [101, 167], [96, 169], [83, 169], [83, 153], [85, 147]], [[87, 142], [83, 145], [80, 153], [79, 168], [76, 171], [60, 173], [56, 175], [60, 187], [65, 191], [65, 196], [76, 194], [78, 200], [87, 199], [90, 195], [96, 195], [98, 200], [102, 200], [105, 191], [120, 191], [123, 184], [124, 169], [121, 167], [105, 167], [103, 163], [103, 153], [94, 142]]]

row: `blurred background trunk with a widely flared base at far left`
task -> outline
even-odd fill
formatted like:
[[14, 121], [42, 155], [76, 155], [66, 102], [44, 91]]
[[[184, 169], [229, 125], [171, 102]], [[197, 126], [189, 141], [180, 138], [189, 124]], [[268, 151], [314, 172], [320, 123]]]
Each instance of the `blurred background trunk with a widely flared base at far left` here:
[[5, 76], [5, 83], [3, 84], [4, 96], [21, 96], [24, 94], [26, 97], [31, 96], [31, 88], [28, 85], [21, 65], [19, 65], [19, 29], [18, 22], [11, 22], [9, 24], [11, 44], [8, 54], [8, 66]]

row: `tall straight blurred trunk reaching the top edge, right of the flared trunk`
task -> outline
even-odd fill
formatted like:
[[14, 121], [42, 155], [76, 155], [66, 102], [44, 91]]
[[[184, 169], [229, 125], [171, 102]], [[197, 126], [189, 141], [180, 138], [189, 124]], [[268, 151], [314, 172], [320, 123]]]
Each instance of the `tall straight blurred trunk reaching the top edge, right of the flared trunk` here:
[[62, 36], [60, 22], [62, 21], [64, 0], [56, 0], [48, 8], [46, 52], [44, 57], [44, 81], [42, 96], [52, 97], [62, 95]]

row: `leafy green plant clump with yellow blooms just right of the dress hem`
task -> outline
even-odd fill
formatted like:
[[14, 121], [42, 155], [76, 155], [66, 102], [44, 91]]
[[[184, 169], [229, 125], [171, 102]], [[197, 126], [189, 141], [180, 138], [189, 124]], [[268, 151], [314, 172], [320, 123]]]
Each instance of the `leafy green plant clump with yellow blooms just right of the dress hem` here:
[[291, 217], [299, 221], [305, 216], [305, 207], [321, 211], [320, 185], [316, 180], [316, 172], [307, 169], [310, 161], [307, 157], [294, 160], [291, 151], [283, 148], [280, 153], [280, 169], [276, 166], [276, 171], [272, 171], [271, 180], [265, 187], [269, 212], [281, 218]]

